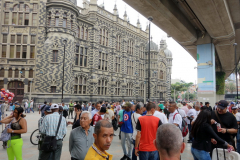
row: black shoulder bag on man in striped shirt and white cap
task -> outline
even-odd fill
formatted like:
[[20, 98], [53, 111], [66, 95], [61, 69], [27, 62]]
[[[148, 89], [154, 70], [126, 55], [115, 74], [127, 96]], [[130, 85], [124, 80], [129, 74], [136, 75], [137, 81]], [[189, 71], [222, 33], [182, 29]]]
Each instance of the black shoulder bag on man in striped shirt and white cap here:
[[58, 127], [55, 136], [45, 136], [42, 142], [41, 150], [45, 152], [53, 152], [57, 150], [57, 134], [62, 121], [62, 114], [60, 114]]

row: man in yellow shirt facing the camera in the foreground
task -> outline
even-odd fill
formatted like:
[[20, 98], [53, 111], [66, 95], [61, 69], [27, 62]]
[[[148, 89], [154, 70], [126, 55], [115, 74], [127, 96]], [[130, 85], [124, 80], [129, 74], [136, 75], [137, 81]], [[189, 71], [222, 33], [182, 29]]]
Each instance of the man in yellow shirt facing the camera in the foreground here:
[[112, 160], [113, 156], [106, 152], [113, 140], [113, 126], [106, 120], [98, 121], [94, 128], [94, 143], [89, 148], [84, 160]]

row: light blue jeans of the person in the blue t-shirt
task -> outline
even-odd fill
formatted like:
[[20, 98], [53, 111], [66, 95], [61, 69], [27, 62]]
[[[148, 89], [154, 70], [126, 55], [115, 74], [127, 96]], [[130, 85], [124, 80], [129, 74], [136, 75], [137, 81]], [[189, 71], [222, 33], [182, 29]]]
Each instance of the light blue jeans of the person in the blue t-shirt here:
[[[122, 145], [122, 149], [123, 149], [123, 153], [124, 155], [128, 156], [129, 158], [132, 157], [132, 142], [131, 142], [131, 138], [132, 138], [132, 133], [125, 133], [125, 132], [121, 132], [121, 145]], [[126, 142], [127, 139], [127, 142]], [[126, 145], [125, 143], [127, 143], [127, 147], [128, 147], [128, 151], [126, 150]]]

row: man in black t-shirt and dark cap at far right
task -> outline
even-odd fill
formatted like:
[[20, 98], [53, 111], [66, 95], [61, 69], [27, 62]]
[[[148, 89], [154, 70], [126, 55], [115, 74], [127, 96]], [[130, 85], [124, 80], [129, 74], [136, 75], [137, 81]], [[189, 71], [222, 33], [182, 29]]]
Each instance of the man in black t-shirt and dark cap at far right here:
[[[214, 129], [214, 131], [217, 133], [217, 135], [225, 140], [228, 144], [235, 146], [234, 137], [237, 133], [238, 125], [237, 120], [234, 117], [234, 115], [230, 112], [227, 112], [227, 106], [228, 102], [225, 100], [221, 100], [218, 102], [217, 110], [212, 112], [211, 115], [211, 124]], [[221, 129], [217, 130], [217, 123], [220, 123]], [[213, 143], [215, 143], [214, 140], [212, 140]], [[213, 146], [212, 150], [216, 146]], [[218, 148], [225, 148], [222, 145], [217, 146]]]

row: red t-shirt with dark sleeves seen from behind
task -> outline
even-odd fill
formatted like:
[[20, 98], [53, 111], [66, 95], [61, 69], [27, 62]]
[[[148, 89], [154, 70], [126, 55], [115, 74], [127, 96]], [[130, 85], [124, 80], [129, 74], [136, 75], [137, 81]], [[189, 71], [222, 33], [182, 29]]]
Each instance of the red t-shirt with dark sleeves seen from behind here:
[[141, 131], [139, 151], [156, 151], [154, 140], [158, 127], [162, 124], [161, 120], [155, 116], [141, 116], [138, 118], [136, 129]]

